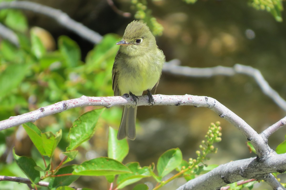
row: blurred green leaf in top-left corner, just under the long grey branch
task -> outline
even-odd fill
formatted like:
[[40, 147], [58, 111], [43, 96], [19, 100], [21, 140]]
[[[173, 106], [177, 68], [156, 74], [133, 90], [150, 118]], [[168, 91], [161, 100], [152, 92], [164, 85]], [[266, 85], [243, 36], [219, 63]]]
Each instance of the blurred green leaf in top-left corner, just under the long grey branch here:
[[23, 13], [19, 10], [9, 10], [5, 19], [5, 24], [9, 28], [21, 33], [24, 33], [28, 30], [27, 19], [25, 15], [23, 15]]

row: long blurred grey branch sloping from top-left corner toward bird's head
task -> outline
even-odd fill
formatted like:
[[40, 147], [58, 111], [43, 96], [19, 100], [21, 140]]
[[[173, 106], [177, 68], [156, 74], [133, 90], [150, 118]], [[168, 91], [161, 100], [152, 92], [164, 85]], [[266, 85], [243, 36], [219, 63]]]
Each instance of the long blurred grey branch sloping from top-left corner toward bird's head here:
[[34, 3], [31, 1], [4, 1], [0, 3], [0, 10], [1, 9], [24, 9], [33, 11], [35, 13], [40, 13], [53, 18], [62, 26], [66, 27], [67, 29], [73, 31], [74, 33], [78, 34], [82, 38], [92, 43], [98, 44], [102, 40], [102, 36], [100, 34], [96, 33], [95, 31], [92, 31], [83, 24], [74, 21], [63, 11], [45, 5], [41, 5], [39, 3]]

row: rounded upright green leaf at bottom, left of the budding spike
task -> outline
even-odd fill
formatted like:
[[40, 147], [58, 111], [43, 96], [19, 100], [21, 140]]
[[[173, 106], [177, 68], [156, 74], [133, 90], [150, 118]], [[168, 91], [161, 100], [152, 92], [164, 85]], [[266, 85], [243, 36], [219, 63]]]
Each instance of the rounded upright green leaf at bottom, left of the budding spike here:
[[182, 162], [182, 152], [179, 148], [174, 148], [164, 152], [158, 159], [158, 175], [164, 177], [174, 170]]

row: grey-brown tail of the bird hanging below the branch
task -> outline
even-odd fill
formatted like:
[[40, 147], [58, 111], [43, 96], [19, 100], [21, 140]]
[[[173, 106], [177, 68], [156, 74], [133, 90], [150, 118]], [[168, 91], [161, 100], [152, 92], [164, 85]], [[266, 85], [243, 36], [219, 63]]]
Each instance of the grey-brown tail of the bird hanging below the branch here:
[[127, 138], [134, 140], [136, 137], [136, 128], [135, 128], [135, 121], [136, 121], [136, 113], [137, 113], [137, 106], [124, 106], [122, 111], [122, 118], [121, 123], [119, 126], [117, 139], [121, 140], [124, 139], [126, 136]]

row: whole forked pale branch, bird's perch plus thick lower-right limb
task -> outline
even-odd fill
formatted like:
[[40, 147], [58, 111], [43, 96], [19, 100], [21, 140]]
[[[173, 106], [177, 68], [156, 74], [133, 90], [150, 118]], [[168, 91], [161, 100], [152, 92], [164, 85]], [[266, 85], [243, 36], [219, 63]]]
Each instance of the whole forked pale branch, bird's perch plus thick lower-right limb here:
[[[178, 189], [218, 189], [229, 183], [242, 179], [264, 179], [273, 189], [285, 189], [271, 174], [272, 172], [286, 171], [286, 154], [277, 154], [267, 144], [268, 137], [286, 124], [286, 117], [282, 118], [261, 134], [258, 134], [243, 119], [221, 104], [214, 98], [207, 96], [194, 95], [153, 95], [155, 105], [182, 106], [189, 105], [195, 107], [206, 107], [216, 112], [218, 116], [224, 118], [235, 126], [251, 142], [257, 152], [257, 157], [229, 162], [213, 169], [212, 171], [188, 181]], [[126, 96], [108, 96], [108, 97], [90, 97], [82, 96], [80, 98], [64, 100], [41, 107], [32, 112], [18, 116], [11, 116], [7, 120], [0, 121], [0, 131], [13, 126], [18, 126], [26, 122], [35, 122], [39, 118], [60, 113], [77, 107], [84, 106], [112, 106], [131, 105], [135, 102], [131, 97]], [[148, 96], [139, 96], [137, 106], [148, 106]], [[208, 183], [206, 183], [208, 181]]]

